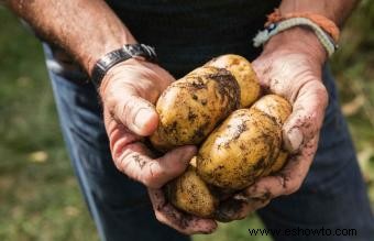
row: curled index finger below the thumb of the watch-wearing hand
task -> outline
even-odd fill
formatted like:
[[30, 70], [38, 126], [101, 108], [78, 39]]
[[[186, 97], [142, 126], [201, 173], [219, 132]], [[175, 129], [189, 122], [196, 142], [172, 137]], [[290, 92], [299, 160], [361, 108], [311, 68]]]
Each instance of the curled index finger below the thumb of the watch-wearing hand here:
[[154, 154], [141, 142], [141, 136], [111, 119], [107, 111], [105, 120], [117, 168], [146, 186], [161, 187], [180, 175], [196, 153], [195, 146], [187, 145], [154, 158]]

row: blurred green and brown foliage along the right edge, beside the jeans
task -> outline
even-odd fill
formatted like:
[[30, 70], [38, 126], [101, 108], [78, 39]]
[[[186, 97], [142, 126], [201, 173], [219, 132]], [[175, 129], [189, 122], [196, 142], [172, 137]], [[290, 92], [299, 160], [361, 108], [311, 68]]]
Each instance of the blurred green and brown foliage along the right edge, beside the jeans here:
[[333, 72], [369, 194], [374, 202], [374, 2], [362, 0], [345, 24]]

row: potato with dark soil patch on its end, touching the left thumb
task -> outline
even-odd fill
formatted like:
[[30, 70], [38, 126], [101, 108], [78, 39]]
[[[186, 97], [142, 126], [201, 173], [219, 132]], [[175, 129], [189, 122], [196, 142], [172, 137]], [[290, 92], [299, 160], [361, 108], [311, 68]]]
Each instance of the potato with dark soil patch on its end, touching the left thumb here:
[[160, 97], [158, 128], [150, 140], [162, 151], [199, 144], [240, 105], [240, 88], [226, 69], [202, 66], [173, 83]]

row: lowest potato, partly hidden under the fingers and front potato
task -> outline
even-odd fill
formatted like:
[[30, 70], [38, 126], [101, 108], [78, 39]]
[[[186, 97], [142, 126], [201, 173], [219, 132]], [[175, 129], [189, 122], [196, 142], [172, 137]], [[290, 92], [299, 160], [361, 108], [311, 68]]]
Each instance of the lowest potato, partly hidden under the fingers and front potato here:
[[194, 165], [168, 183], [166, 190], [175, 207], [195, 216], [211, 218], [219, 204], [208, 185], [196, 174]]

